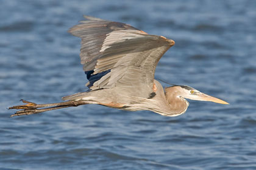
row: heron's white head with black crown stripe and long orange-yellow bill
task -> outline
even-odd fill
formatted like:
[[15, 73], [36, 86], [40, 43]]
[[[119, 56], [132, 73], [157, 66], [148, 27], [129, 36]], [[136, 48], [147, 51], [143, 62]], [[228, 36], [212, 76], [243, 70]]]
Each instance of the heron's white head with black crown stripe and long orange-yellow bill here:
[[202, 92], [199, 92], [199, 90], [194, 89], [193, 87], [190, 86], [171, 86], [166, 88], [166, 92], [175, 92], [175, 94], [178, 97], [182, 98], [188, 98], [190, 100], [199, 100], [199, 101], [212, 101], [215, 103], [220, 103], [220, 104], [229, 104], [226, 101], [223, 101], [219, 98], [212, 97], [207, 94], [203, 94]]

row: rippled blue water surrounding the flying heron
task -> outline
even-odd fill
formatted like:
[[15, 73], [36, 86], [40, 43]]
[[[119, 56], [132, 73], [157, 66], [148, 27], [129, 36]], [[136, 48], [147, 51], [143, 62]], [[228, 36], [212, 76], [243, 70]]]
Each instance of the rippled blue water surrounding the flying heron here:
[[[179, 117], [88, 105], [9, 118], [21, 98], [85, 91], [82, 15], [174, 39], [156, 78], [230, 105]], [[1, 1], [0, 169], [256, 169], [256, 1]], [[168, 84], [163, 83], [163, 86]]]

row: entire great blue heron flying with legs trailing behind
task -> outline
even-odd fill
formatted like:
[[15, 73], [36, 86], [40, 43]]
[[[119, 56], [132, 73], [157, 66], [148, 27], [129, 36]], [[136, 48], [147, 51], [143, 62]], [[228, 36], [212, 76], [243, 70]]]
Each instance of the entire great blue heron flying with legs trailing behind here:
[[[183, 114], [191, 100], [226, 101], [203, 94], [189, 86], [174, 85], [163, 89], [154, 79], [155, 67], [174, 41], [149, 35], [128, 24], [84, 16], [69, 29], [82, 39], [81, 64], [87, 75], [87, 92], [63, 97], [65, 102], [36, 104], [22, 100], [24, 105], [9, 107], [16, 115], [38, 114], [48, 110], [82, 104], [101, 104], [123, 110], [151, 110], [174, 117]], [[38, 109], [42, 108], [42, 109]]]

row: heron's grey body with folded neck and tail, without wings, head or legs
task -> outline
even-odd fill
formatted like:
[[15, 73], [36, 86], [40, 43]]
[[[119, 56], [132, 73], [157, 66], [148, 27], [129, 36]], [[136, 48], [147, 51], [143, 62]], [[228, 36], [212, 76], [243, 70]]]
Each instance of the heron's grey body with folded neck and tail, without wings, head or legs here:
[[[176, 94], [166, 94], [162, 85], [157, 80], [154, 80], [154, 83], [155, 92], [152, 92], [152, 97], [150, 95], [146, 98], [140, 97], [135, 92], [122, 92], [121, 90], [124, 89], [114, 87], [113, 89], [93, 90], [91, 92], [63, 97], [63, 100], [84, 100], [88, 104], [101, 104], [103, 106], [130, 111], [151, 110], [166, 116], [177, 116], [187, 110], [189, 104], [187, 100], [175, 97], [171, 101], [168, 101], [168, 97]], [[167, 98], [166, 95], [168, 96]]]

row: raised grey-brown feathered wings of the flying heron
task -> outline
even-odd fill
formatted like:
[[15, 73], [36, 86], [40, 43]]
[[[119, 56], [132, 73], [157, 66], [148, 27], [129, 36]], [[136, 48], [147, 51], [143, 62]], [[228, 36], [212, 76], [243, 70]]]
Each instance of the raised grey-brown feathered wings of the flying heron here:
[[121, 22], [84, 18], [87, 21], [80, 21], [69, 32], [82, 39], [80, 59], [87, 86], [91, 90], [136, 86], [152, 92], [155, 67], [174, 41]]

